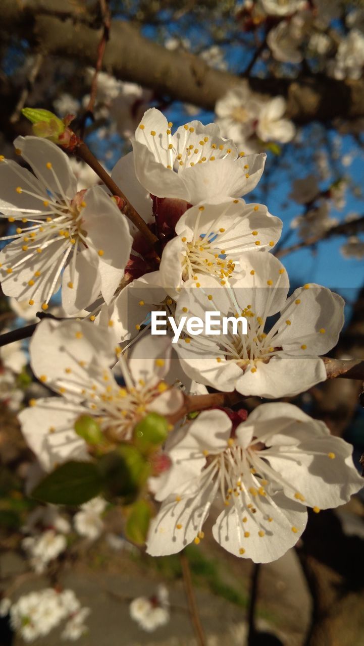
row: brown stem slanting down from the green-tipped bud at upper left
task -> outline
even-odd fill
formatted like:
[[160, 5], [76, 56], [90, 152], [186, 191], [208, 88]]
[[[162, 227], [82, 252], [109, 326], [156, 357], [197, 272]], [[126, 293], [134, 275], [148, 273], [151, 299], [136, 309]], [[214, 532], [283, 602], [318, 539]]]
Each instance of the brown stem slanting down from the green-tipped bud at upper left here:
[[[111, 191], [112, 195], [116, 195], [118, 198], [123, 200], [123, 202], [125, 203], [122, 209], [123, 214], [125, 214], [127, 218], [131, 222], [133, 222], [133, 224], [136, 226], [137, 229], [139, 229], [140, 233], [142, 233], [145, 240], [149, 242], [149, 245], [151, 245], [153, 249], [156, 242], [158, 242], [158, 238], [155, 236], [154, 233], [151, 232], [149, 227], [147, 227], [144, 220], [140, 217], [139, 213], [137, 213], [133, 205], [129, 202], [127, 197], [123, 194], [123, 192], [120, 190], [118, 185], [114, 182], [114, 180], [112, 180], [109, 173], [105, 171], [105, 169], [96, 159], [96, 157], [92, 154], [91, 150], [85, 144], [84, 141], [80, 141], [80, 143], [76, 144], [75, 152], [76, 152], [76, 155], [80, 157], [81, 160], [85, 161], [85, 163], [87, 163], [87, 165], [89, 165], [89, 167], [91, 167], [92, 170], [96, 172], [96, 174], [100, 177], [100, 180], [102, 180], [102, 182], [105, 184], [105, 186], [107, 186], [109, 191]], [[156, 255], [156, 252], [155, 252], [155, 258], [156, 260], [160, 260]]]

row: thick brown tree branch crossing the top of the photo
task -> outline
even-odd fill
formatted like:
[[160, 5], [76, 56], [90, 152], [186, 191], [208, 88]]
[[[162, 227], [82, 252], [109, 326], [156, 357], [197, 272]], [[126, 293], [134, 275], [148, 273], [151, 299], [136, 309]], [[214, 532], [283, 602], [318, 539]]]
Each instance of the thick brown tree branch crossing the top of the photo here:
[[[47, 54], [96, 65], [102, 26], [85, 7], [63, 0], [14, 0], [1, 3], [1, 30], [25, 37]], [[141, 36], [129, 23], [114, 20], [103, 68], [124, 81], [140, 83], [157, 94], [213, 109], [217, 99], [242, 81], [215, 70], [198, 56], [169, 51]], [[286, 96], [287, 115], [297, 122], [354, 119], [364, 116], [364, 81], [336, 81], [312, 75], [299, 79], [250, 79], [252, 89]]]

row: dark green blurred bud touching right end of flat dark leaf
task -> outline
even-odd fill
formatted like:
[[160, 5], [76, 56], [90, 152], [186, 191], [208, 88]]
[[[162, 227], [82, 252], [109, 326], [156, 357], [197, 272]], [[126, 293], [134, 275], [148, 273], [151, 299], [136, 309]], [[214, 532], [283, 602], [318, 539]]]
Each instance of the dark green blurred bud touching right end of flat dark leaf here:
[[120, 496], [124, 503], [133, 502], [145, 485], [151, 465], [132, 444], [118, 448], [100, 457], [98, 468], [102, 474], [107, 495]]

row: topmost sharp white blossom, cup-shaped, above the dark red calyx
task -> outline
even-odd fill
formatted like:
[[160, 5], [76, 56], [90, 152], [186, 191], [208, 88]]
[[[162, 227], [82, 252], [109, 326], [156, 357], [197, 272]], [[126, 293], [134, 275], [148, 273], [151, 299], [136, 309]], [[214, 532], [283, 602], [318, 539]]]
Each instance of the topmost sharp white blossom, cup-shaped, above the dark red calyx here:
[[231, 140], [221, 138], [214, 123], [191, 121], [173, 135], [172, 125], [151, 108], [136, 129], [135, 172], [149, 193], [198, 204], [240, 197], [257, 185], [266, 159], [263, 153], [244, 157]]

